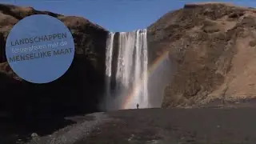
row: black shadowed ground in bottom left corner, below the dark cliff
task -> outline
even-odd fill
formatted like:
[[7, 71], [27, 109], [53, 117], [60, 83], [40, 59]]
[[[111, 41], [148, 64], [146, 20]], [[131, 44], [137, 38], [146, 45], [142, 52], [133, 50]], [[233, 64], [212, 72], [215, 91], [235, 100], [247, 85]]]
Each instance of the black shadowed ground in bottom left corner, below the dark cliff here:
[[73, 124], [64, 118], [17, 120], [14, 118], [0, 119], [0, 143], [14, 144], [28, 142], [33, 133], [39, 136], [52, 134], [55, 130]]

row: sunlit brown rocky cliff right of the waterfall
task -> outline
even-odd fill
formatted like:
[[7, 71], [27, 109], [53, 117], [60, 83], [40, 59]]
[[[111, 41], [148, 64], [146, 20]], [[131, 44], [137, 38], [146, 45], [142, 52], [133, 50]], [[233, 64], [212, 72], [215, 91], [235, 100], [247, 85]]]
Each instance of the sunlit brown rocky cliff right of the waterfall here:
[[163, 107], [254, 98], [256, 10], [190, 4], [149, 26], [151, 62], [164, 51], [175, 70]]

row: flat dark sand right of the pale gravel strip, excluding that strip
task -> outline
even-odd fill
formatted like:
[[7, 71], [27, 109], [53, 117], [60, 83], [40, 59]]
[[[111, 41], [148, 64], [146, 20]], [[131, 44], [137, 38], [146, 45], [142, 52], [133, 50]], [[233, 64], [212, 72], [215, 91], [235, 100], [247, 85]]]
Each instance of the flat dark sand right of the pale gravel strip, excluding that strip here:
[[255, 110], [122, 110], [74, 144], [256, 143]]

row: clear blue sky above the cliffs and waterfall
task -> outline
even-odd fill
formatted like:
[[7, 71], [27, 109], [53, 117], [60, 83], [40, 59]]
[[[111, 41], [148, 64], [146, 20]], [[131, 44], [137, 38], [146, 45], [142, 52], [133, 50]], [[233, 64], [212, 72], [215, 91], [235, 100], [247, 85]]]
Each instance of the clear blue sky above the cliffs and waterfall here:
[[[32, 6], [58, 14], [82, 16], [110, 31], [146, 28], [170, 10], [193, 0], [0, 0], [18, 6]], [[226, 0], [239, 6], [256, 6], [255, 0]]]

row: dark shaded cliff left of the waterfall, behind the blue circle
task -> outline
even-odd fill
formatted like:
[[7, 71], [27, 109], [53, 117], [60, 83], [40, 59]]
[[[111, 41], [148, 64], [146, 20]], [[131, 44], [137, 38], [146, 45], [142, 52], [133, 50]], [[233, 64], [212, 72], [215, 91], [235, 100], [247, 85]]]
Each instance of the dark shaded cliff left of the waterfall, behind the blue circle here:
[[[6, 62], [5, 42], [9, 31], [16, 22], [32, 14], [48, 14], [60, 19], [74, 37], [75, 56], [70, 69], [47, 84], [23, 81]], [[0, 5], [0, 113], [58, 116], [98, 111], [104, 88], [107, 33], [85, 18], [66, 17], [31, 7]]]

